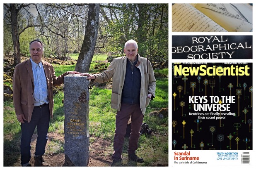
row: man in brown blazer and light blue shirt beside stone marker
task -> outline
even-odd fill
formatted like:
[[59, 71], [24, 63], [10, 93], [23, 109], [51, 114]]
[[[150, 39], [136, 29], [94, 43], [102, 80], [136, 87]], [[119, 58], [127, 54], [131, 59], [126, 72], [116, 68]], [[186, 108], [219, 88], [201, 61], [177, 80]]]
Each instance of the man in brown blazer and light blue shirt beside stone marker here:
[[64, 76], [79, 74], [68, 71], [56, 77], [51, 64], [41, 60], [43, 43], [29, 43], [30, 59], [15, 66], [13, 74], [13, 103], [18, 121], [21, 123], [21, 165], [31, 166], [30, 142], [37, 126], [35, 166], [49, 166], [43, 161], [50, 117], [53, 118], [53, 86], [64, 82]]

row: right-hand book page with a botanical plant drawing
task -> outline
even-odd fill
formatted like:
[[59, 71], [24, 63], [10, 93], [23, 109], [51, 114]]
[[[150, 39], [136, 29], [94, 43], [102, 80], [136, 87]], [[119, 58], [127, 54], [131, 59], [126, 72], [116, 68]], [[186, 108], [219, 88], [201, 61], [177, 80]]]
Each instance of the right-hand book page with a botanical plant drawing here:
[[249, 4], [196, 4], [195, 7], [227, 31], [252, 31], [252, 6]]

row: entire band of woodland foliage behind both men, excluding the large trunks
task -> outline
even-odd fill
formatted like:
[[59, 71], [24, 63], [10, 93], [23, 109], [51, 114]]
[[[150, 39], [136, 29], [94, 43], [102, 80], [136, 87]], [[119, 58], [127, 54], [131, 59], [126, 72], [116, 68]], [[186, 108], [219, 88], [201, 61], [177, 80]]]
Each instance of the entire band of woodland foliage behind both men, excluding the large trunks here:
[[[73, 5], [62, 9], [55, 4], [37, 4], [37, 7], [43, 21], [39, 16], [28, 14], [28, 7], [19, 9], [17, 28], [21, 54], [29, 56], [28, 44], [36, 38], [42, 40], [46, 57], [64, 58], [67, 53], [79, 52], [85, 35], [88, 7]], [[6, 6], [4, 9], [4, 54], [10, 55], [13, 54], [12, 23], [10, 10]], [[109, 4], [101, 10], [104, 11], [99, 16], [95, 54], [122, 56], [126, 41], [134, 39], [142, 57], [160, 64], [168, 61], [168, 4]], [[32, 24], [41, 26], [26, 28]], [[74, 58], [77, 59], [77, 55]], [[97, 60], [101, 59], [97, 57]]]

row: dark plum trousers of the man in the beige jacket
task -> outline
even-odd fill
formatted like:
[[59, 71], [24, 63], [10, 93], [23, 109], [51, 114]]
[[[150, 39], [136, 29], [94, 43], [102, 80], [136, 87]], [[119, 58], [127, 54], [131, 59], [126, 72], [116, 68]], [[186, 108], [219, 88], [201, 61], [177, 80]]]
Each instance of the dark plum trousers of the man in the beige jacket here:
[[113, 159], [121, 159], [123, 151], [124, 137], [126, 135], [126, 127], [131, 117], [131, 133], [128, 146], [128, 154], [135, 153], [138, 149], [138, 140], [140, 138], [140, 127], [142, 125], [144, 115], [141, 112], [140, 104], [121, 104], [120, 111], [116, 114], [116, 133], [114, 137], [114, 154]]

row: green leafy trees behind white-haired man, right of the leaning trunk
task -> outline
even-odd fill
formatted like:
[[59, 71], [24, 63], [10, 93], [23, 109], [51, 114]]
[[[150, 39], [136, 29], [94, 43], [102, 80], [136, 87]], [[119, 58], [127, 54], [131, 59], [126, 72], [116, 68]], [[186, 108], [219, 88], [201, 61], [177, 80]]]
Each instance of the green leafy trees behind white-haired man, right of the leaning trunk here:
[[[150, 61], [168, 61], [168, 4], [116, 4], [118, 19], [101, 28], [109, 36], [103, 52], [121, 52], [127, 40], [138, 43], [138, 53]], [[136, 11], [136, 12], [135, 12]], [[138, 11], [138, 12], [137, 12]], [[99, 40], [100, 41], [100, 40]]]

